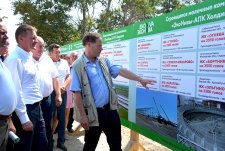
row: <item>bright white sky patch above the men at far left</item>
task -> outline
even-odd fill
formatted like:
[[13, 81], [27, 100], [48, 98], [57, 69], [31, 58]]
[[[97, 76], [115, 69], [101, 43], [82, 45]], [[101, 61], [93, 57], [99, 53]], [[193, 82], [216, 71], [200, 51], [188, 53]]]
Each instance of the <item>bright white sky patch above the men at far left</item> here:
[[8, 18], [3, 19], [4, 24], [8, 29], [9, 37], [9, 52], [13, 51], [16, 47], [15, 31], [18, 27], [16, 24], [19, 23], [19, 17], [13, 15], [13, 10], [11, 8], [11, 0], [0, 0], [0, 14], [1, 16], [6, 16]]

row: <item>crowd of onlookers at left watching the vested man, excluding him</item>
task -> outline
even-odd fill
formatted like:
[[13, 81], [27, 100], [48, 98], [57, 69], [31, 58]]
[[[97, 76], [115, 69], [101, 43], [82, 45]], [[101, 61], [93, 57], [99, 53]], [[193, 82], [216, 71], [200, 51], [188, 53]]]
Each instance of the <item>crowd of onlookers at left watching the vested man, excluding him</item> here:
[[[8, 55], [7, 28], [0, 23], [0, 150], [53, 150], [64, 145], [65, 129], [73, 133], [73, 96], [69, 91], [70, 67], [77, 59], [72, 52], [60, 58], [60, 46], [45, 42], [30, 25], [17, 28], [17, 47]], [[4, 63], [3, 63], [4, 61]], [[9, 124], [8, 124], [9, 123]], [[8, 130], [18, 135], [8, 141]]]

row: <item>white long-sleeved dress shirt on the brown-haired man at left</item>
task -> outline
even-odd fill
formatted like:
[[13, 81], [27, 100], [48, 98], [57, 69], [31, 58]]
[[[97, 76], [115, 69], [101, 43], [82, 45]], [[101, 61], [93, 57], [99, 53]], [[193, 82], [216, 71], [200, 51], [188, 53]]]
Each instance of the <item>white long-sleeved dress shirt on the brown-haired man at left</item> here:
[[42, 100], [40, 92], [39, 73], [33, 62], [33, 57], [20, 47], [10, 54], [5, 65], [12, 74], [17, 90], [16, 113], [22, 124], [29, 121], [26, 104], [34, 104]]

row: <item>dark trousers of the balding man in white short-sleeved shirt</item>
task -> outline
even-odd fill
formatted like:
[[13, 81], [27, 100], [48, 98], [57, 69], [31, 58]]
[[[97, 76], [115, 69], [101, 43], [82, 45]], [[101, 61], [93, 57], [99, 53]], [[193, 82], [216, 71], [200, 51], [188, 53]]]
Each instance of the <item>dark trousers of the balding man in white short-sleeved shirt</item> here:
[[52, 144], [52, 104], [51, 104], [51, 95], [45, 97], [41, 100], [41, 110], [43, 113], [43, 118], [45, 121], [45, 128], [46, 128], [46, 137], [48, 140], [48, 151], [53, 151], [53, 144]]

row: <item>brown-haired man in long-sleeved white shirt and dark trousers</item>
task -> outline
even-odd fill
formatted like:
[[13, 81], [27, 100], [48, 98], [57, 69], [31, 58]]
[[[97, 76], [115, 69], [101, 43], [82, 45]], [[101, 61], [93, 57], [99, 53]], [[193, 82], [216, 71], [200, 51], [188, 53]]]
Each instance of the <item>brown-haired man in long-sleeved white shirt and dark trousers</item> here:
[[47, 150], [45, 123], [40, 107], [43, 96], [39, 73], [30, 53], [37, 41], [36, 31], [30, 25], [19, 26], [15, 33], [18, 46], [5, 60], [17, 90], [16, 114], [12, 115], [20, 137], [20, 142], [15, 144], [16, 151]]

